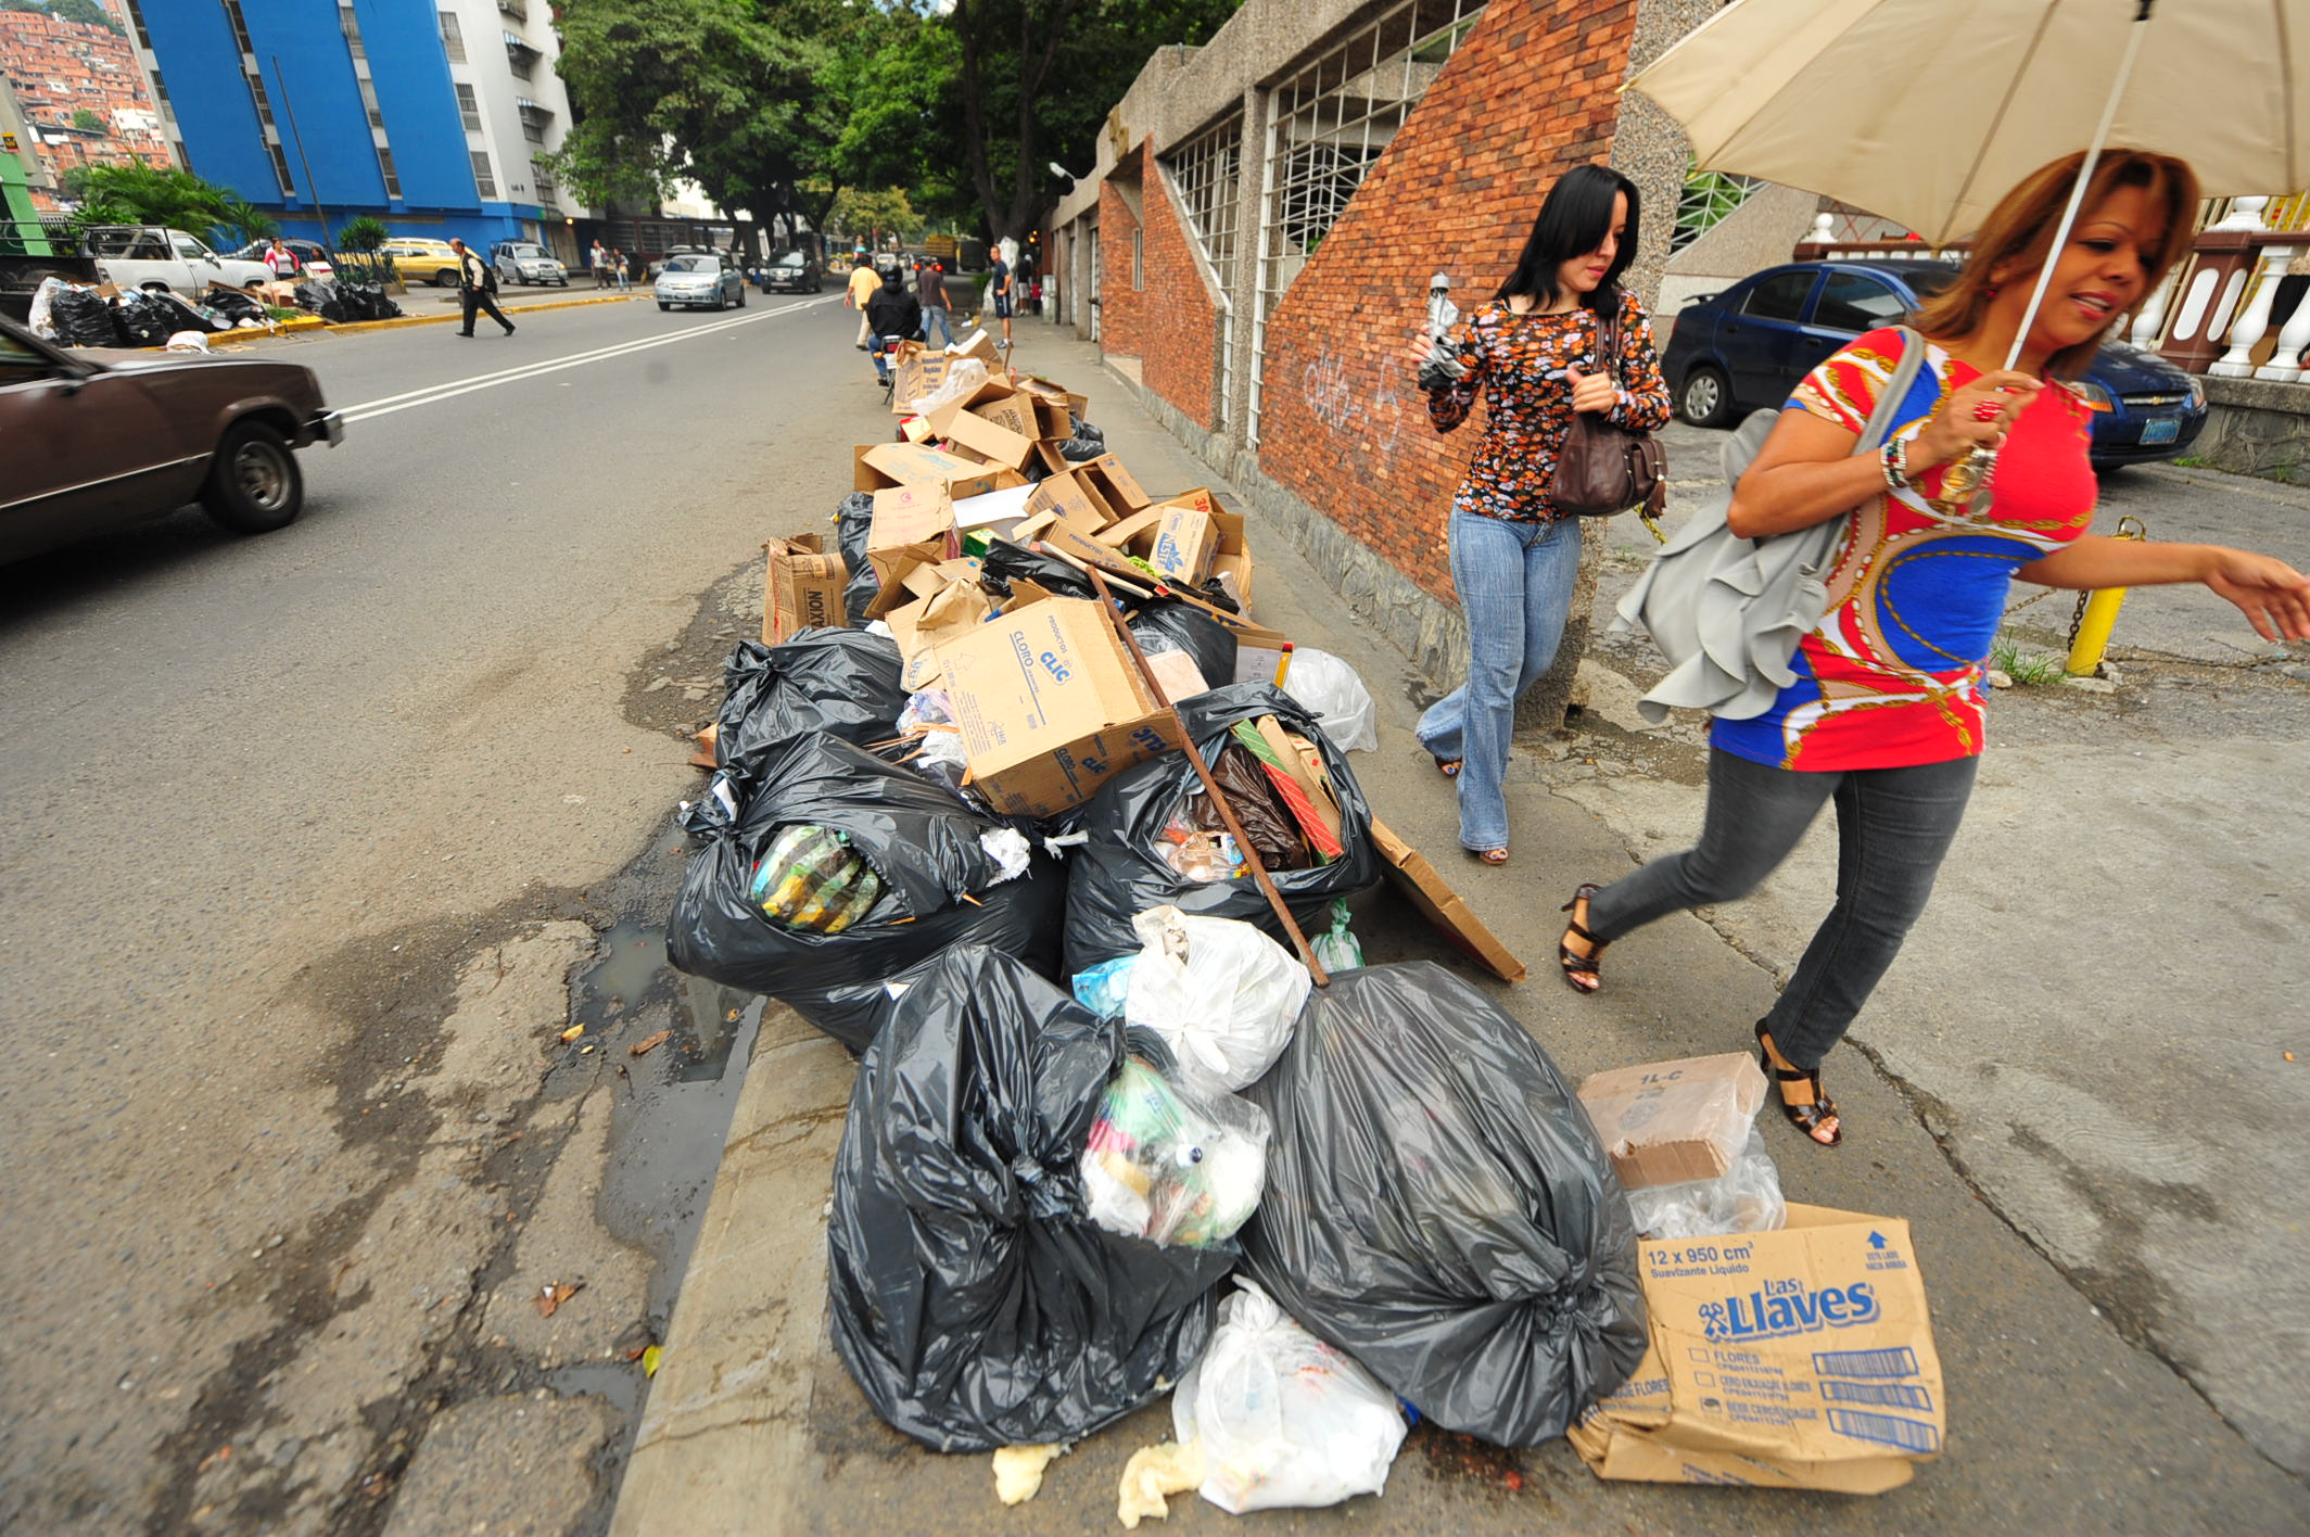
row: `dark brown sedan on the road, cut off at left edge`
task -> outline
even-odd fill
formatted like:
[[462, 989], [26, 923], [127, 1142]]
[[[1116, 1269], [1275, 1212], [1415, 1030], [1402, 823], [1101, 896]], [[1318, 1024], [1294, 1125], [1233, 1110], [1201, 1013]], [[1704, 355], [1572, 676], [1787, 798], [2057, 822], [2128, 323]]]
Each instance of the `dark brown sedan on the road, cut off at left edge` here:
[[60, 351], [0, 319], [0, 559], [23, 559], [192, 499], [236, 534], [305, 508], [296, 448], [344, 425], [298, 363]]

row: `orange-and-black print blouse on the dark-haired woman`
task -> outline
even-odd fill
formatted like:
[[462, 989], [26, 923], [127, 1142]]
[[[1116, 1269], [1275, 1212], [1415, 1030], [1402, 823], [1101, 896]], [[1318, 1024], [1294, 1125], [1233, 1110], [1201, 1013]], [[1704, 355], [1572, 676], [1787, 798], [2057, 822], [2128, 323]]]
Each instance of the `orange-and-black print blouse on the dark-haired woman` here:
[[[1550, 522], [1562, 515], [1550, 490], [1557, 451], [1573, 421], [1573, 388], [1564, 370], [1578, 365], [1585, 374], [1601, 372], [1596, 321], [1596, 312], [1587, 307], [1515, 314], [1506, 303], [1492, 300], [1444, 337], [1467, 365], [1467, 377], [1428, 393], [1430, 425], [1451, 432], [1467, 421], [1478, 386], [1485, 400], [1483, 441], [1453, 497], [1455, 513], [1508, 522]], [[1652, 319], [1626, 291], [1619, 296], [1619, 404], [1610, 421], [1631, 432], [1659, 432], [1668, 425], [1668, 381], [1652, 351]]]

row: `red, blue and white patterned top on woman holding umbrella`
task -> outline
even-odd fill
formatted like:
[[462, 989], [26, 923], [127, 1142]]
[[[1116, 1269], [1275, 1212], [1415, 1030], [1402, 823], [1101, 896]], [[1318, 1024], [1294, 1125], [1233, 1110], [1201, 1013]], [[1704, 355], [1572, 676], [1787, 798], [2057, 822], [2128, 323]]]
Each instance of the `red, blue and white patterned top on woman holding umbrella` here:
[[[1804, 377], [1788, 407], [1860, 437], [1899, 358], [1899, 331], [1855, 337]], [[1927, 342], [1892, 435], [1915, 439], [1933, 409], [1977, 377]], [[1797, 680], [1765, 714], [1719, 719], [1709, 740], [1790, 770], [1910, 767], [1980, 753], [1982, 673], [2012, 573], [2093, 525], [2086, 423], [2084, 402], [2065, 386], [2030, 400], [2005, 435], [1977, 518], [1943, 499], [1943, 469], [1862, 502], [1830, 571], [1830, 610], [1790, 661]]]

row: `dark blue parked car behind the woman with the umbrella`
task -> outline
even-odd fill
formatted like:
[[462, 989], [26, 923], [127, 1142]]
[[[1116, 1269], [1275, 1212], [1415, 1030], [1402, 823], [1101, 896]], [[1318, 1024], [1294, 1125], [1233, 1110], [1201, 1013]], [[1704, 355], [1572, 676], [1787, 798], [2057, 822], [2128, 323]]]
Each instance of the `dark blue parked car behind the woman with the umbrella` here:
[[[1943, 261], [1790, 261], [1702, 294], [1677, 312], [1661, 372], [1677, 416], [1730, 428], [1779, 409], [1797, 381], [1864, 331], [1890, 326], [1957, 275]], [[2093, 404], [2095, 469], [2185, 453], [2206, 425], [2206, 391], [2151, 351], [2104, 342], [2079, 379]]]

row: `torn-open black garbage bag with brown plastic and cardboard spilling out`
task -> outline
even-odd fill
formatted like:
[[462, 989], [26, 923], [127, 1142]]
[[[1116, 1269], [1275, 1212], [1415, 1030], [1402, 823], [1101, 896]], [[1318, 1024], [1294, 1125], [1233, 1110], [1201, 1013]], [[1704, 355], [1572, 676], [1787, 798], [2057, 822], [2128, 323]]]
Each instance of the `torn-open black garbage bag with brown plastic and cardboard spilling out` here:
[[[1351, 897], [1386, 874], [1372, 846], [1372, 809], [1356, 786], [1356, 772], [1347, 767], [1347, 753], [1331, 744], [1296, 700], [1266, 684], [1229, 684], [1183, 700], [1178, 710], [1206, 760], [1234, 740], [1227, 735], [1229, 726], [1261, 714], [1273, 714], [1284, 730], [1307, 737], [1321, 753], [1340, 800], [1344, 853], [1331, 864], [1273, 871], [1275, 890], [1294, 918], [1314, 922], [1335, 897]], [[1240, 918], [1282, 938], [1282, 925], [1252, 878], [1190, 881], [1164, 860], [1164, 825], [1199, 790], [1201, 781], [1187, 756], [1162, 753], [1123, 770], [1090, 797], [1083, 809], [1090, 841], [1074, 851], [1067, 867], [1067, 975], [1118, 955], [1137, 955], [1141, 943], [1132, 934], [1132, 918], [1167, 901], [1199, 918]]]

